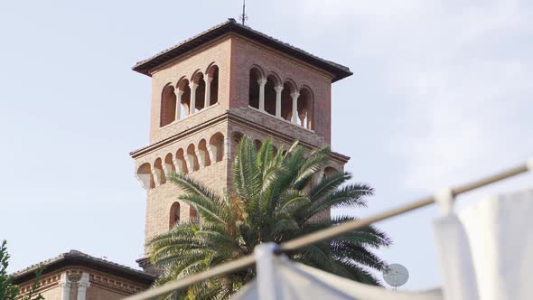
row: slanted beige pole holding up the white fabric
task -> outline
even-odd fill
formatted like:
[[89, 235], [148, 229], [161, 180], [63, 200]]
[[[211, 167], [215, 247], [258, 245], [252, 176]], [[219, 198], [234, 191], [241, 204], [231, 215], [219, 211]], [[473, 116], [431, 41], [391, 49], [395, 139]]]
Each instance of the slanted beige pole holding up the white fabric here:
[[[501, 180], [516, 176], [520, 173], [527, 173], [528, 171], [533, 171], [533, 161], [529, 161], [528, 164], [520, 164], [519, 166], [510, 168], [509, 170], [506, 170], [504, 172], [496, 173], [491, 176], [484, 177], [480, 180], [473, 181], [472, 183], [466, 183], [466, 184], [460, 185], [452, 189], [452, 194], [454, 196], [457, 196], [464, 192], [470, 192], [472, 190], [481, 188], [491, 183], [496, 183]], [[397, 215], [403, 214], [408, 211], [415, 211], [416, 209], [425, 207], [434, 202], [435, 202], [435, 198], [433, 196], [428, 196], [417, 202], [412, 202], [407, 205], [397, 207], [396, 209], [392, 209], [390, 211], [381, 212], [367, 219], [347, 221], [339, 226], [335, 226], [335, 227], [328, 228], [325, 230], [319, 230], [311, 234], [308, 234], [306, 236], [286, 241], [285, 243], [282, 243], [279, 245], [280, 251], [288, 252], [288, 251], [292, 251], [298, 248], [304, 248], [306, 246], [312, 245], [319, 241], [323, 241], [325, 239], [332, 239], [345, 232], [349, 232], [353, 230], [360, 230], [379, 220], [386, 220], [386, 219], [395, 217]], [[150, 298], [153, 298], [159, 295], [165, 295], [174, 290], [182, 289], [187, 286], [192, 286], [203, 280], [209, 279], [210, 277], [220, 276], [223, 274], [235, 272], [244, 267], [252, 266], [254, 265], [255, 262], [256, 262], [256, 259], [254, 255], [253, 254], [248, 255], [244, 258], [238, 258], [236, 260], [230, 261], [229, 263], [226, 263], [226, 264], [223, 264], [217, 267], [212, 267], [207, 271], [194, 274], [190, 277], [186, 277], [183, 279], [169, 282], [165, 284], [164, 286], [157, 286], [145, 292], [129, 296], [126, 298], [126, 300], [145, 300], [145, 299], [150, 299]]]

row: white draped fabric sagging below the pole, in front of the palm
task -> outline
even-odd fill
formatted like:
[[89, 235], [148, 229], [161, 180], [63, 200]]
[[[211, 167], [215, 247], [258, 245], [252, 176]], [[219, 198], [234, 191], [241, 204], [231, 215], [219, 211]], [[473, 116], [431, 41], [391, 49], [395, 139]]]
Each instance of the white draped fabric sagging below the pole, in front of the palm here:
[[[379, 286], [369, 286], [338, 277], [314, 267], [290, 261], [270, 253], [266, 248], [256, 251], [257, 279], [244, 286], [234, 300], [442, 300], [440, 290], [427, 292], [394, 292]], [[264, 291], [267, 287], [270, 290]]]

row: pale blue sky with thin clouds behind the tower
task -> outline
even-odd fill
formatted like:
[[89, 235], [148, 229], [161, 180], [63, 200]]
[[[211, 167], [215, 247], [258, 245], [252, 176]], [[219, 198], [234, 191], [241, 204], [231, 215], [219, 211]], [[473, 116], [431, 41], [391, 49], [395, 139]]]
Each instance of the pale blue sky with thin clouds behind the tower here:
[[[0, 10], [0, 239], [11, 271], [71, 248], [135, 267], [150, 79], [130, 70], [238, 17], [240, 1], [10, 1]], [[332, 148], [376, 188], [360, 217], [533, 155], [527, 1], [252, 1], [248, 24], [354, 75], [333, 85]], [[464, 198], [525, 187], [531, 174]], [[466, 200], [459, 202], [464, 205]], [[439, 284], [435, 208], [379, 223], [406, 288]]]

